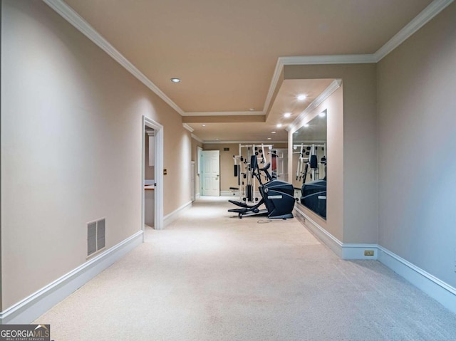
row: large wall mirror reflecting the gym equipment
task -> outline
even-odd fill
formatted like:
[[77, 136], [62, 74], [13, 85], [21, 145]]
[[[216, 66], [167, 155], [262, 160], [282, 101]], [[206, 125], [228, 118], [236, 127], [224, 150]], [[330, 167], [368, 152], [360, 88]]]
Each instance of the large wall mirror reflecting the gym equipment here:
[[326, 115], [323, 110], [293, 134], [293, 186], [299, 204], [326, 219]]

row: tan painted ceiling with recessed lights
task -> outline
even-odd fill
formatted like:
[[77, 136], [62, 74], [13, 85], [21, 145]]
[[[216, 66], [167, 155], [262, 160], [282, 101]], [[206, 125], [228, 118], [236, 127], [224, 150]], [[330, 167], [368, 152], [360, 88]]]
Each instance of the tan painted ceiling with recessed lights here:
[[[430, 0], [66, 0], [180, 112], [266, 114], [279, 57], [375, 53]], [[178, 77], [181, 83], [171, 83]], [[265, 122], [189, 123], [202, 140], [266, 140], [296, 93], [315, 82], [284, 81]], [[321, 84], [320, 82], [316, 82]], [[310, 96], [310, 95], [309, 95]], [[310, 103], [310, 102], [309, 102]], [[307, 103], [307, 104], [309, 104]], [[220, 114], [218, 114], [220, 115]], [[278, 131], [274, 138], [286, 140]], [[250, 139], [249, 139], [250, 140]]]

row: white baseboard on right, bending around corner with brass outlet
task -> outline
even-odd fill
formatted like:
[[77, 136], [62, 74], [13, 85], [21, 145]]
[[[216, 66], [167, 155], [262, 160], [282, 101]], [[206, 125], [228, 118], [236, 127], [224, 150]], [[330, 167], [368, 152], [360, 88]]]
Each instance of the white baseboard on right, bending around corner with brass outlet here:
[[[396, 255], [378, 244], [370, 243], [342, 243], [328, 231], [319, 226], [315, 221], [306, 216], [303, 211], [295, 207], [295, 211], [302, 216], [303, 224], [323, 243], [331, 248], [339, 258], [345, 260], [369, 259], [377, 260], [386, 267], [398, 273], [410, 283], [415, 285], [452, 313], [456, 314], [456, 288], [432, 276], [413, 263]], [[364, 251], [374, 251], [374, 256], [364, 256]]]

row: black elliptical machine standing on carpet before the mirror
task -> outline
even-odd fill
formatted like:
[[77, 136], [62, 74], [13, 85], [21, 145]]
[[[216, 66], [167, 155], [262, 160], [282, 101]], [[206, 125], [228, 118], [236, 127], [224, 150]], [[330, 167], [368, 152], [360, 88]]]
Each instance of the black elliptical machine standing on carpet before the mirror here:
[[[292, 184], [280, 180], [273, 180], [268, 169], [271, 164], [266, 164], [264, 168], [259, 169], [257, 156], [252, 155], [250, 158], [250, 167], [252, 177], [256, 177], [259, 182], [259, 193], [261, 200], [252, 206], [244, 204], [242, 201], [229, 200], [232, 204], [240, 206], [240, 209], [229, 209], [229, 212], [237, 213], [239, 218], [243, 216], [267, 216], [269, 219], [289, 219], [293, 218], [291, 213], [294, 208], [294, 188]], [[260, 170], [266, 174], [269, 182], [261, 182]], [[259, 209], [264, 204], [266, 209]]]

